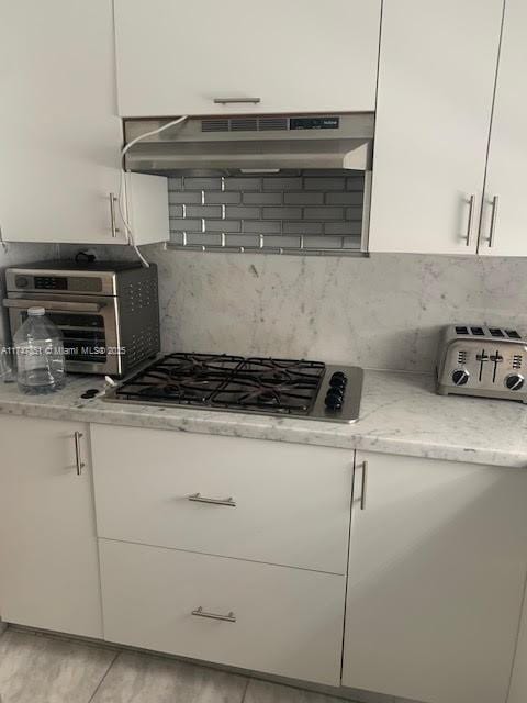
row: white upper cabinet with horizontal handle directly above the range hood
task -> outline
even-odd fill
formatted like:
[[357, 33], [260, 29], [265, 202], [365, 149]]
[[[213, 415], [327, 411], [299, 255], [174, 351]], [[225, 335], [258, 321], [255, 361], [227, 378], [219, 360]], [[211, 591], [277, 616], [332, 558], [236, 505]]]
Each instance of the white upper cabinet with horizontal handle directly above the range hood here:
[[120, 114], [374, 110], [380, 11], [380, 0], [115, 0]]

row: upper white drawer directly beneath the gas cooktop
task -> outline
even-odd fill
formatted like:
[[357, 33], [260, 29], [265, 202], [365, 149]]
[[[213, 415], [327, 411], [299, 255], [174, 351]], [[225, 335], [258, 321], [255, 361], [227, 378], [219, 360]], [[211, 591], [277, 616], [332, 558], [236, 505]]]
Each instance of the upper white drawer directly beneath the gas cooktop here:
[[100, 537], [346, 573], [352, 451], [105, 425], [92, 451]]

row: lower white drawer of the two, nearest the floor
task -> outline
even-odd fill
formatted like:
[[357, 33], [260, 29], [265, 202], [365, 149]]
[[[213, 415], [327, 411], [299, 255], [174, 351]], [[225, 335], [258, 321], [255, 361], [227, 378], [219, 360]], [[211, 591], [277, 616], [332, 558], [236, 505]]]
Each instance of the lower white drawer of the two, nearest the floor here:
[[100, 555], [106, 640], [339, 683], [345, 577], [105, 539]]

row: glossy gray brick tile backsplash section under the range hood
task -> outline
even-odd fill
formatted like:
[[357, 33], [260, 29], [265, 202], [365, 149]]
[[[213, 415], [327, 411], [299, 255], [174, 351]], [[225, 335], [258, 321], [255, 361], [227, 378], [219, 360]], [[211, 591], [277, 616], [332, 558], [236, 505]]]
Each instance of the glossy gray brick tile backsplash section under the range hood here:
[[[338, 248], [341, 236], [360, 246], [365, 177], [358, 171], [310, 170], [277, 175], [183, 176], [168, 179], [172, 241], [227, 246], [258, 245], [258, 235], [277, 235], [266, 246]], [[295, 244], [296, 243], [296, 244]], [[355, 243], [354, 243], [355, 245]]]

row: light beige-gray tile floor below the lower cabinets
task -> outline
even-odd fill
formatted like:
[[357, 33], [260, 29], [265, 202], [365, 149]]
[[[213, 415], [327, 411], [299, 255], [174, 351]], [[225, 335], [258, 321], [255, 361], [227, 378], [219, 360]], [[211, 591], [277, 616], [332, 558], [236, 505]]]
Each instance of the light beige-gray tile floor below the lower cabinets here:
[[343, 703], [175, 659], [11, 628], [0, 633], [0, 696], [1, 703]]

